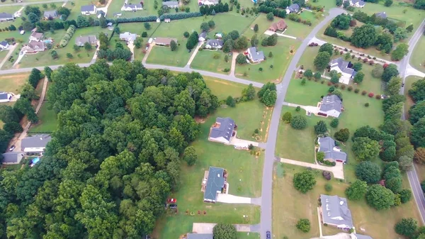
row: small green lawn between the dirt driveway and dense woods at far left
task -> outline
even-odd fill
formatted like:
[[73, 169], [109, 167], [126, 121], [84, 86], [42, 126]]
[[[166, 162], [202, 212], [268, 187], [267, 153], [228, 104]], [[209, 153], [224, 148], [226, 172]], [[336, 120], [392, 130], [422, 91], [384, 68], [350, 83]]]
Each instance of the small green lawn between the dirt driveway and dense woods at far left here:
[[57, 129], [55, 111], [47, 109], [47, 105], [47, 101], [43, 102], [40, 111], [38, 111], [39, 121], [30, 128], [29, 133], [53, 132]]

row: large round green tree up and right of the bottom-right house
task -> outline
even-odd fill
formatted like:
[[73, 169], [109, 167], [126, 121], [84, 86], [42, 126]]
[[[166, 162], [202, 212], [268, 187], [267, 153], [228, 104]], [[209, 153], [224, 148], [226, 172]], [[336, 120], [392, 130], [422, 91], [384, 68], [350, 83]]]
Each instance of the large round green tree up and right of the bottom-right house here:
[[390, 209], [394, 205], [395, 195], [390, 189], [386, 189], [379, 184], [373, 184], [366, 193], [366, 202], [369, 206], [380, 211]]

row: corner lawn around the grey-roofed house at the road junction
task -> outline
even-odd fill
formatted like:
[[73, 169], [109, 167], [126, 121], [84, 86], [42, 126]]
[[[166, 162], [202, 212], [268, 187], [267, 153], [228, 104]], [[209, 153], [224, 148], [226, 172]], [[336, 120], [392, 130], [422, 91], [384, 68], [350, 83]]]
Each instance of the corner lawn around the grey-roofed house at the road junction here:
[[[261, 37], [263, 37], [261, 35]], [[260, 38], [261, 42], [261, 38]], [[236, 65], [235, 75], [244, 79], [251, 79], [256, 82], [280, 82], [280, 78], [285, 73], [295, 50], [300, 45], [300, 41], [290, 38], [278, 38], [278, 44], [273, 47], [258, 46], [259, 50], [264, 52], [266, 60], [259, 64]], [[293, 50], [293, 53], [290, 53]], [[273, 52], [273, 57], [268, 57]], [[270, 66], [273, 65], [273, 68]], [[263, 68], [261, 72], [259, 68]], [[246, 74], [246, 77], [244, 76]]]

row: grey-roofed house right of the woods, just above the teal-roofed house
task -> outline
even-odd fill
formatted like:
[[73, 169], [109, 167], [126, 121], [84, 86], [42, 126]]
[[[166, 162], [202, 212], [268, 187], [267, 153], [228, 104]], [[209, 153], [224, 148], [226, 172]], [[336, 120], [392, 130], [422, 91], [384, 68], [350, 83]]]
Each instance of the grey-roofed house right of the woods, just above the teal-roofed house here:
[[208, 140], [229, 144], [230, 138], [234, 136], [237, 128], [232, 118], [220, 118], [215, 119], [215, 123], [210, 128], [210, 136]]

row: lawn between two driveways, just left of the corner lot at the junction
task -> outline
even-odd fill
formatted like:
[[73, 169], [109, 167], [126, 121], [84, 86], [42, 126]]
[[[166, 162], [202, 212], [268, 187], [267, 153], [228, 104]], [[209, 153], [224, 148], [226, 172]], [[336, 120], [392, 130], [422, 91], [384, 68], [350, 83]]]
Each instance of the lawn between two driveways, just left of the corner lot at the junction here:
[[[218, 55], [219, 57], [215, 59], [214, 57]], [[225, 52], [221, 50], [202, 50], [198, 51], [195, 59], [193, 59], [191, 68], [198, 70], [206, 70], [208, 72], [217, 72], [222, 74], [229, 74], [229, 72], [223, 72], [226, 68], [230, 70], [232, 67], [232, 57], [229, 57], [229, 60], [225, 62]]]

